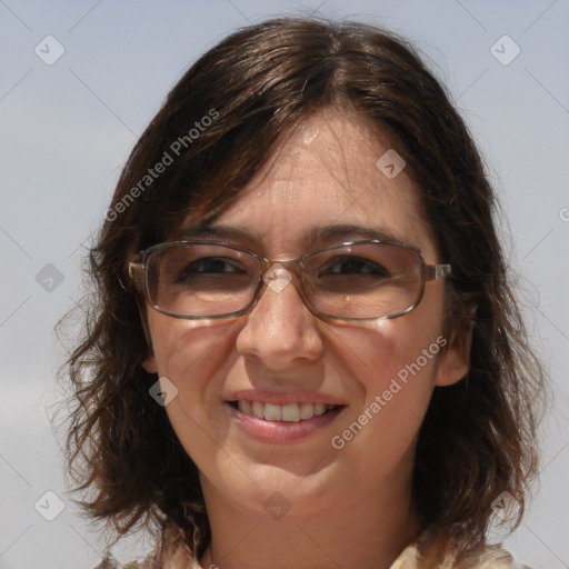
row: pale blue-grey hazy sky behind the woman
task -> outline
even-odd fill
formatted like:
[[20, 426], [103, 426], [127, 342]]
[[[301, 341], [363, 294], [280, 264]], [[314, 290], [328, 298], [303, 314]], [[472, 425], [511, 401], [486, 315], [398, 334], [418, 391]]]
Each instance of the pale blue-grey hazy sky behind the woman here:
[[49, 418], [63, 360], [53, 326], [79, 298], [130, 149], [203, 51], [249, 22], [312, 12], [413, 40], [485, 154], [555, 393], [541, 488], [506, 545], [536, 569], [569, 568], [569, 0], [0, 0], [0, 569], [100, 562]]

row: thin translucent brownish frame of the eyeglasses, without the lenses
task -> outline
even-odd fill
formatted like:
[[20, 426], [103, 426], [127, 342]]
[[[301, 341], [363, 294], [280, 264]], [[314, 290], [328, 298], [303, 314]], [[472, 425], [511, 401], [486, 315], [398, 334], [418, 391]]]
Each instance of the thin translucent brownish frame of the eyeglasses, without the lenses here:
[[[355, 244], [389, 244], [389, 246], [397, 246], [402, 247], [405, 249], [410, 249], [415, 251], [420, 261], [421, 261], [421, 287], [419, 290], [419, 295], [417, 300], [405, 310], [400, 310], [399, 312], [396, 312], [393, 315], [386, 315], [380, 317], [369, 317], [369, 318], [349, 318], [349, 317], [338, 317], [328, 315], [326, 312], [322, 312], [318, 310], [315, 306], [312, 306], [306, 290], [305, 290], [305, 281], [303, 281], [303, 270], [305, 270], [305, 263], [306, 260], [317, 253], [320, 253], [322, 251], [333, 250], [333, 249], [340, 249], [342, 247], [349, 247]], [[211, 244], [211, 246], [221, 246], [227, 247], [229, 249], [233, 249], [236, 251], [244, 252], [253, 257], [259, 261], [260, 264], [260, 273], [259, 273], [259, 282], [257, 283], [251, 301], [243, 307], [240, 310], [233, 311], [233, 312], [227, 312], [223, 315], [214, 315], [214, 316], [191, 316], [191, 315], [179, 315], [177, 312], [170, 312], [168, 310], [164, 310], [162, 308], [159, 308], [152, 302], [152, 299], [150, 297], [150, 287], [149, 287], [149, 280], [148, 280], [148, 259], [151, 254], [156, 253], [157, 251], [163, 251], [167, 249], [171, 249], [173, 247], [179, 246], [192, 246], [192, 244]], [[268, 259], [267, 257], [263, 257], [262, 254], [259, 254], [251, 249], [248, 249], [246, 247], [240, 247], [234, 243], [230, 243], [227, 241], [217, 241], [217, 240], [210, 240], [210, 239], [198, 239], [198, 240], [191, 240], [191, 241], [166, 241], [160, 244], [156, 244], [152, 247], [149, 247], [148, 249], [144, 249], [142, 251], [139, 251], [137, 253], [137, 258], [132, 261], [129, 261], [128, 264], [128, 271], [129, 277], [134, 282], [134, 286], [141, 290], [144, 295], [146, 300], [148, 303], [158, 312], [170, 316], [172, 318], [180, 318], [183, 320], [219, 320], [223, 318], [234, 318], [244, 315], [248, 312], [259, 300], [261, 297], [261, 292], [264, 290], [264, 288], [268, 287], [268, 284], [264, 282], [263, 277], [267, 274], [267, 272], [274, 266], [279, 264], [283, 268], [286, 268], [288, 271], [290, 271], [295, 277], [297, 278], [298, 284], [297, 290], [300, 293], [302, 301], [305, 302], [305, 306], [310, 310], [312, 315], [320, 319], [325, 320], [341, 320], [341, 321], [370, 321], [370, 320], [383, 320], [383, 319], [392, 319], [398, 318], [403, 315], [407, 315], [415, 310], [419, 303], [422, 300], [422, 297], [425, 295], [425, 284], [427, 281], [430, 280], [438, 280], [443, 277], [448, 277], [451, 272], [450, 264], [446, 263], [438, 263], [438, 264], [427, 264], [425, 261], [425, 257], [422, 254], [422, 251], [410, 243], [406, 243], [403, 241], [395, 241], [395, 240], [386, 240], [386, 239], [365, 239], [365, 240], [357, 240], [357, 241], [345, 241], [341, 243], [322, 247], [320, 249], [316, 249], [313, 251], [308, 251], [298, 259], [291, 259], [288, 261], [282, 260], [274, 260], [274, 259]], [[140, 274], [143, 273], [143, 278], [140, 278]]]

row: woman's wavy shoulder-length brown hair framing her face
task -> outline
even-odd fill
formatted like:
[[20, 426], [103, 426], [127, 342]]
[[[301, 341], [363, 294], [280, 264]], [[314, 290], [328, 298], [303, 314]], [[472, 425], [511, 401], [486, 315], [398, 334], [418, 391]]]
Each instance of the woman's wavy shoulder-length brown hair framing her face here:
[[[127, 262], [188, 214], [219, 214], [279, 137], [326, 106], [353, 109], [389, 134], [422, 191], [441, 259], [452, 266], [449, 326], [468, 329], [476, 310], [470, 370], [436, 388], [417, 445], [412, 498], [432, 550], [483, 543], [502, 491], [523, 512], [537, 472], [543, 375], [512, 298], [495, 194], [468, 129], [405, 40], [362, 23], [283, 18], [229, 36], [176, 84], [134, 146], [90, 253], [94, 296], [68, 361], [77, 400], [68, 453], [77, 487], [91, 491], [83, 505], [119, 536], [173, 521], [198, 555], [210, 537], [197, 468], [148, 393], [157, 377], [141, 367], [148, 345]], [[146, 179], [166, 154], [173, 163]]]

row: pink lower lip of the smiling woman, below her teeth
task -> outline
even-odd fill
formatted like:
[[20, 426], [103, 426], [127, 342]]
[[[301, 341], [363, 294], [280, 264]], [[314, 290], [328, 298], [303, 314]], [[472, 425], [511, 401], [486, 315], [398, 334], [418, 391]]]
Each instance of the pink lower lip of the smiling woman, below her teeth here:
[[259, 419], [254, 415], [243, 413], [229, 403], [226, 406], [232, 418], [250, 437], [262, 442], [273, 443], [291, 442], [308, 437], [330, 425], [345, 409], [345, 407], [339, 407], [318, 417], [300, 421], [268, 421]]

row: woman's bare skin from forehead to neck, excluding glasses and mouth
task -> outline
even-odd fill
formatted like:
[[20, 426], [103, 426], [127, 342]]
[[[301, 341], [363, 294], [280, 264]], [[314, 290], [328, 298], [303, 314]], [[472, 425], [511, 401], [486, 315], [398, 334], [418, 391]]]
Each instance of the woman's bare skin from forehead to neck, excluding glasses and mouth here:
[[[321, 110], [283, 138], [214, 226], [247, 230], [233, 241], [287, 260], [359, 237], [311, 242], [309, 230], [352, 223], [388, 231], [419, 247], [428, 263], [441, 262], [407, 171], [388, 179], [376, 166], [389, 148], [387, 137], [355, 114]], [[280, 292], [266, 288], [239, 318], [191, 321], [148, 309], [152, 352], [144, 366], [178, 388], [167, 412], [201, 473], [212, 529], [203, 567], [387, 568], [417, 537], [410, 503], [417, 435], [435, 386], [467, 372], [465, 342], [451, 335], [447, 349], [341, 450], [330, 439], [442, 335], [443, 301], [441, 279], [428, 282], [420, 305], [403, 317], [323, 321], [293, 281]], [[259, 442], [223, 402], [250, 388], [313, 390], [347, 407], [301, 440]], [[276, 491], [290, 508], [280, 519], [263, 507]]]

